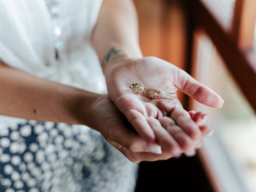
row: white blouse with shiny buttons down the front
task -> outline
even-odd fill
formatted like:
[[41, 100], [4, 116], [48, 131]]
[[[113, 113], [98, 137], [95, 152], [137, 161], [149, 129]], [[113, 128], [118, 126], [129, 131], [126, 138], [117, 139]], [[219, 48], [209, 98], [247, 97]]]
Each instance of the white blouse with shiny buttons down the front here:
[[[90, 42], [101, 4], [102, 0], [0, 0], [0, 59], [40, 78], [106, 93]], [[64, 46], [56, 60], [58, 41]], [[20, 121], [0, 116], [0, 129]]]

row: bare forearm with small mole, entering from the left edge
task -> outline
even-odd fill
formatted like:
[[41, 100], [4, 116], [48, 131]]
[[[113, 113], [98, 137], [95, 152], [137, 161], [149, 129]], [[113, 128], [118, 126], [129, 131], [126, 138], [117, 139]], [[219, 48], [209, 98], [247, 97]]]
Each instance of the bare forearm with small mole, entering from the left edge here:
[[1, 62], [0, 90], [1, 115], [92, 126], [89, 109], [98, 94], [37, 78]]

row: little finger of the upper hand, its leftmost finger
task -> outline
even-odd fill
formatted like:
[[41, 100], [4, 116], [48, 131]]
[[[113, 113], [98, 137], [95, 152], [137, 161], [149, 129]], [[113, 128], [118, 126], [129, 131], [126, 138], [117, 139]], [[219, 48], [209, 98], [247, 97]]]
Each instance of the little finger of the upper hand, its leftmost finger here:
[[146, 142], [155, 143], [156, 136], [143, 114], [137, 110], [129, 109], [124, 112], [124, 116]]

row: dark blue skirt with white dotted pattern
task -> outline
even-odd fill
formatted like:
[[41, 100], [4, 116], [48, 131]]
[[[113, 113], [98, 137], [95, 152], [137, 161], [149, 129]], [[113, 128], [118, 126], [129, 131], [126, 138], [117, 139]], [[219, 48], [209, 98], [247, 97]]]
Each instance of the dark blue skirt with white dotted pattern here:
[[0, 192], [132, 192], [138, 164], [86, 126], [0, 128]]

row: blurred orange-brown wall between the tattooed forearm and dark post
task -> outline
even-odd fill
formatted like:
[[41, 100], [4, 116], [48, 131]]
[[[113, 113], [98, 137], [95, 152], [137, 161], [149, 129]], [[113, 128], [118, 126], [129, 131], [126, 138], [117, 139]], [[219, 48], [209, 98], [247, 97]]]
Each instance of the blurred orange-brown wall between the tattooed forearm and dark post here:
[[[178, 1], [134, 0], [138, 12], [140, 46], [144, 56], [162, 58], [185, 68], [186, 20]], [[178, 93], [183, 100], [183, 95]]]

